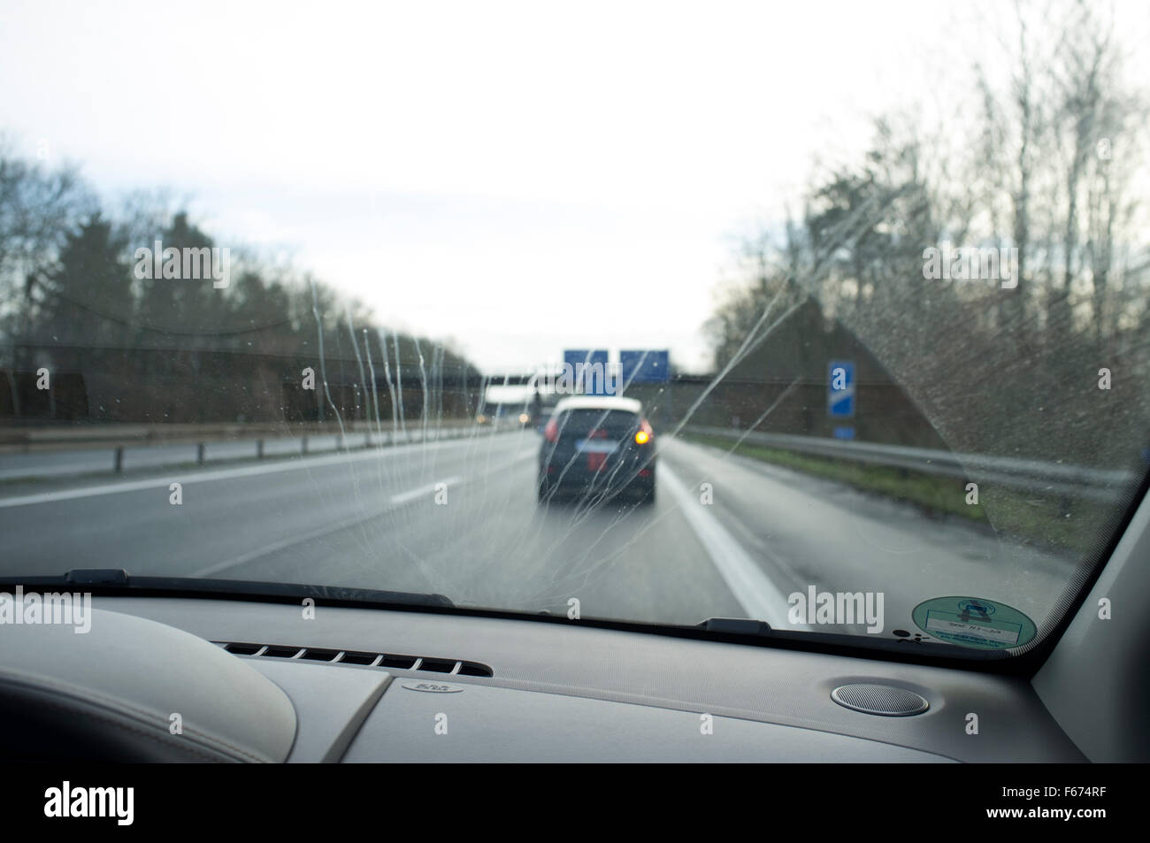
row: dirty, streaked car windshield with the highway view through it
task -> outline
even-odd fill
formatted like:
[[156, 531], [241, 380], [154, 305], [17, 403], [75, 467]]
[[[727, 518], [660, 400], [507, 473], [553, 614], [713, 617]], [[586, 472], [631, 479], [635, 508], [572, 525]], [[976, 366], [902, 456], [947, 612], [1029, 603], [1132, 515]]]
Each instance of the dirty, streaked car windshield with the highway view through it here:
[[1150, 465], [1144, 3], [2, 17], [0, 576], [1011, 657]]

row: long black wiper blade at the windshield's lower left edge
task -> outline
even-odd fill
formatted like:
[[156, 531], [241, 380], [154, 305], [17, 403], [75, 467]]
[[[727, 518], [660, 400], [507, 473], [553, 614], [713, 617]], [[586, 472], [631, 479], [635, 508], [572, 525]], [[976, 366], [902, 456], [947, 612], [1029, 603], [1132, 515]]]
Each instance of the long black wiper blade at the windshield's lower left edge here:
[[123, 568], [72, 568], [62, 575], [0, 576], [0, 585], [56, 585], [86, 587], [101, 592], [182, 592], [220, 597], [310, 597], [336, 603], [363, 603], [379, 606], [429, 606], [454, 608], [443, 595], [409, 591], [383, 591], [343, 585], [313, 585], [307, 583], [258, 582], [247, 580], [206, 580], [192, 576], [135, 576]]

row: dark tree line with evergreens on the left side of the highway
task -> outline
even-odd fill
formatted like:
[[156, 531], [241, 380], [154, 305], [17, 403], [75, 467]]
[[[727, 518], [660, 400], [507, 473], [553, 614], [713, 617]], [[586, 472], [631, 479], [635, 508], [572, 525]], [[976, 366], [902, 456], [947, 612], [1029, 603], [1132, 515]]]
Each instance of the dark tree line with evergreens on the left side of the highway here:
[[[76, 168], [0, 147], [0, 415], [302, 421], [368, 419], [377, 407], [390, 419], [392, 404], [419, 416], [424, 400], [430, 413], [463, 415], [477, 404], [468, 392], [480, 374], [459, 352], [382, 329], [312, 274], [231, 248], [223, 289], [146, 277], [155, 273], [139, 271], [138, 250], [158, 240], [221, 247], [156, 194], [110, 212]], [[307, 367], [319, 386], [304, 393]], [[41, 369], [71, 386], [51, 406], [34, 389]]]

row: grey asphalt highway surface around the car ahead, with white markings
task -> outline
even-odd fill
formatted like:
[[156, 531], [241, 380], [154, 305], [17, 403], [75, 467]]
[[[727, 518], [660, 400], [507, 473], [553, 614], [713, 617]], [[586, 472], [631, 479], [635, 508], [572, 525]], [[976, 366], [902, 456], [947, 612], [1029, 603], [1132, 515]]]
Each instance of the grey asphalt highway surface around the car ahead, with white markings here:
[[[536, 500], [535, 431], [0, 486], [0, 574], [130, 574], [437, 592], [584, 618], [790, 626], [810, 587], [881, 592], [882, 631], [931, 597], [1040, 627], [1074, 573], [959, 519], [662, 437], [653, 505]], [[170, 483], [182, 484], [171, 503]], [[710, 484], [705, 503], [702, 484]], [[799, 624], [804, 626], [804, 624]], [[823, 627], [816, 627], [823, 629]], [[867, 634], [856, 624], [849, 629]]]

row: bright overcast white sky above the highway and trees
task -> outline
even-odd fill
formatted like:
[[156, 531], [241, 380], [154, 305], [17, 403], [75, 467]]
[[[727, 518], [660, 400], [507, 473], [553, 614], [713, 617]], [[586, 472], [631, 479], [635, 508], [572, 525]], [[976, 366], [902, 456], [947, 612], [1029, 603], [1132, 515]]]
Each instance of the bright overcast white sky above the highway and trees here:
[[[749, 219], [928, 95], [949, 2], [0, 10], [0, 130], [105, 194], [194, 197], [490, 370], [699, 328]], [[935, 68], [937, 69], [937, 68]]]

